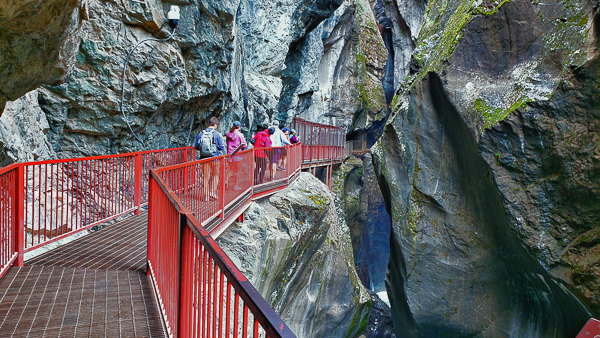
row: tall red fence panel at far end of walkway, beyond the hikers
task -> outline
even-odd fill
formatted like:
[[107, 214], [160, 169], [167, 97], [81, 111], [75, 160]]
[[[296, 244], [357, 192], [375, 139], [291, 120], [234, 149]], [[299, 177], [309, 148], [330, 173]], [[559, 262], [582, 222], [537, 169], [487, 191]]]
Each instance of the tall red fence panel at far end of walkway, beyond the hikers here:
[[346, 131], [340, 127], [309, 122], [296, 118], [292, 122], [298, 140], [302, 143], [302, 164], [313, 164], [344, 159]]

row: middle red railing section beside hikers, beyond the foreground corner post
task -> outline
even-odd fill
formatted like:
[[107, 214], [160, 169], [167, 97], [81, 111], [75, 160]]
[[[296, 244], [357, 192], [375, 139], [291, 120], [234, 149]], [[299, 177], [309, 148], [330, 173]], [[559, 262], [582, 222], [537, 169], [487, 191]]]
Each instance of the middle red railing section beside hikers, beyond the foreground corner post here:
[[[163, 167], [157, 169], [156, 173], [174, 191], [182, 205], [195, 214], [197, 221], [206, 226], [222, 222], [249, 201], [255, 185], [264, 184], [271, 189], [284, 186], [300, 170], [300, 152], [300, 144], [253, 148], [233, 156]], [[266, 156], [265, 161], [260, 157], [261, 154]], [[281, 159], [283, 167], [273, 165], [275, 159]], [[263, 180], [257, 174], [261, 170], [265, 172]], [[271, 180], [271, 177], [274, 179]]]

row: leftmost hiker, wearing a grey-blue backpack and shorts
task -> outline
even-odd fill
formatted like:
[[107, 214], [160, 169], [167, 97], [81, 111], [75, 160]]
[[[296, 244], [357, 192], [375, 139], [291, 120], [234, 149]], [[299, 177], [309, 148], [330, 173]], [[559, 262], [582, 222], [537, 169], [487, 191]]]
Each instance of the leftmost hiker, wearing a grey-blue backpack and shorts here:
[[[200, 151], [201, 159], [219, 156], [225, 151], [223, 136], [217, 131], [219, 119], [211, 117], [208, 123], [208, 128], [201, 131], [196, 137], [196, 150]], [[204, 194], [205, 201], [208, 201], [209, 199], [218, 199], [217, 188], [220, 176], [218, 165], [219, 162], [217, 161], [209, 161], [202, 164], [202, 171], [204, 173], [204, 187], [202, 193]]]

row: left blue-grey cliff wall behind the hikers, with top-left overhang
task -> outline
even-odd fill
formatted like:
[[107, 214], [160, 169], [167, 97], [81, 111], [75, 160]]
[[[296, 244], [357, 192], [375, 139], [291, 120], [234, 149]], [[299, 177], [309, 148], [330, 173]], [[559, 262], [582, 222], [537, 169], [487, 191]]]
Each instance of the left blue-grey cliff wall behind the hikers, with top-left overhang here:
[[[0, 29], [9, 39], [0, 46], [7, 56], [0, 60], [6, 69], [0, 106], [45, 84], [29, 97], [37, 97], [33, 106], [49, 124], [36, 138], [47, 139], [62, 158], [190, 145], [211, 116], [221, 118], [222, 130], [240, 120], [247, 134], [274, 118], [360, 128], [386, 116], [380, 79], [388, 51], [368, 1], [177, 5], [181, 20], [172, 38], [145, 42], [131, 55], [124, 114], [125, 56], [144, 39], [170, 36], [171, 3], [1, 5]], [[43, 39], [25, 24], [12, 25], [37, 10], [39, 20], [26, 23]]]

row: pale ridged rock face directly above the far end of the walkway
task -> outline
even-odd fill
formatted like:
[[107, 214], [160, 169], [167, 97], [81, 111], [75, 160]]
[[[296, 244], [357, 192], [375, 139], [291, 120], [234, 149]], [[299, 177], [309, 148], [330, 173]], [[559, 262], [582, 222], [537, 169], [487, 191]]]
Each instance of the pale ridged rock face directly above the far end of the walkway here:
[[386, 116], [387, 56], [369, 2], [344, 1], [290, 50], [281, 116], [368, 128]]

